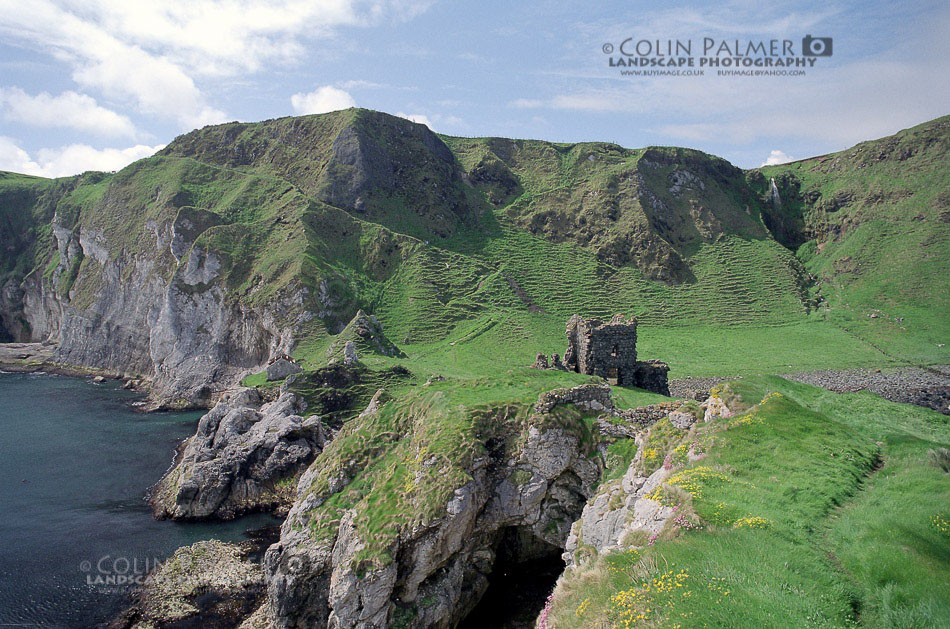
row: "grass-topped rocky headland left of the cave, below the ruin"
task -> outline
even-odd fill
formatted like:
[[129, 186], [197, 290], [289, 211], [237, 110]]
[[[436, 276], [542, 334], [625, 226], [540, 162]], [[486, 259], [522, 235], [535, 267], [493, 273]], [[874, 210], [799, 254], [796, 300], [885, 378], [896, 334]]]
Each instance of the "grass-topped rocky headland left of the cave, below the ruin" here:
[[265, 561], [277, 626], [452, 627], [501, 555], [560, 553], [602, 469], [596, 405], [432, 389], [373, 405], [301, 478]]

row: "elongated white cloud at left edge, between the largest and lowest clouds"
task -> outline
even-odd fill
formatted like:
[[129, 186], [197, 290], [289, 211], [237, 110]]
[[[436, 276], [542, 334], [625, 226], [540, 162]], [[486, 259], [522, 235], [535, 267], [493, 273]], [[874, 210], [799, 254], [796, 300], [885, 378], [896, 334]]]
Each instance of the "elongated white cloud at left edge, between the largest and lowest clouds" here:
[[100, 107], [91, 96], [73, 91], [52, 96], [31, 96], [17, 87], [0, 89], [3, 117], [37, 127], [66, 127], [97, 135], [133, 137], [135, 127], [127, 116]]

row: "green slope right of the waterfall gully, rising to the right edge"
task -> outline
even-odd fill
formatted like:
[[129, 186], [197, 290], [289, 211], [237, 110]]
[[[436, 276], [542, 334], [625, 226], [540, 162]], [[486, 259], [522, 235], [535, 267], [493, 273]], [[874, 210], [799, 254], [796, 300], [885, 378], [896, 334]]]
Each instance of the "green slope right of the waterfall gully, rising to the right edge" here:
[[923, 364], [950, 359], [938, 347], [950, 333], [948, 129], [944, 117], [761, 169], [800, 225], [799, 257], [822, 283], [828, 320]]

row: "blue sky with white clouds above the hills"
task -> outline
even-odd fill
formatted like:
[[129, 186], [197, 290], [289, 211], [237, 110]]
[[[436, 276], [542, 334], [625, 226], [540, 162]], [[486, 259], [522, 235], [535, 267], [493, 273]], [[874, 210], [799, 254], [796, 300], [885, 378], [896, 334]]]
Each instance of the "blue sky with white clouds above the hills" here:
[[[806, 35], [832, 54], [806, 55]], [[789, 40], [767, 56], [812, 65], [611, 67], [668, 62], [670, 40], [696, 64]], [[0, 0], [0, 170], [116, 170], [206, 124], [351, 106], [448, 135], [688, 146], [751, 168], [948, 114], [948, 76], [945, 1]]]

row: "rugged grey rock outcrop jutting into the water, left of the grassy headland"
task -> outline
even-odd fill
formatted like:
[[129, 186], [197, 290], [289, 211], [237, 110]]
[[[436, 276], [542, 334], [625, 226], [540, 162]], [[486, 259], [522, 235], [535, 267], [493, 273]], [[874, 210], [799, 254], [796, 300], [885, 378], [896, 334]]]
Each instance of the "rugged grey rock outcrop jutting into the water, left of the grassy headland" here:
[[180, 461], [155, 486], [157, 517], [232, 518], [286, 508], [325, 443], [320, 418], [294, 393], [264, 403], [252, 388], [226, 394], [198, 422]]

